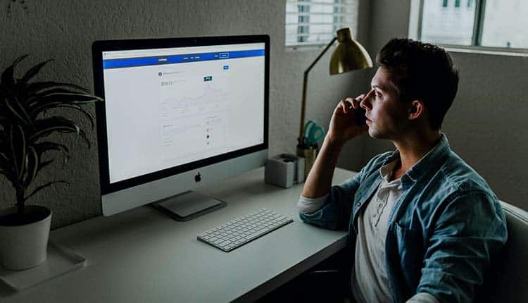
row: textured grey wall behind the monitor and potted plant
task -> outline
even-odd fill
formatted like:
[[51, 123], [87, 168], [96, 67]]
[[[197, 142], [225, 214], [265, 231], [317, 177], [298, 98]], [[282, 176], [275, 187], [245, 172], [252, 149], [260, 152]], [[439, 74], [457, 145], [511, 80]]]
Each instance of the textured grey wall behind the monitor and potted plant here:
[[[11, 4], [11, 9], [7, 6]], [[295, 152], [303, 70], [320, 49], [287, 51], [284, 48], [285, 1], [276, 0], [178, 0], [178, 1], [3, 1], [0, 6], [0, 68], [18, 56], [30, 54], [19, 73], [32, 64], [56, 58], [44, 69], [39, 80], [60, 80], [93, 88], [91, 44], [96, 39], [186, 37], [206, 35], [268, 34], [271, 37], [270, 62], [270, 155]], [[360, 10], [361, 24], [367, 24], [368, 6]], [[360, 27], [359, 37], [367, 37]], [[327, 125], [334, 104], [366, 77], [361, 72], [328, 75], [329, 54], [310, 73], [307, 118]], [[352, 83], [352, 85], [349, 85]], [[360, 84], [361, 83], [361, 84]], [[89, 110], [94, 112], [93, 106]], [[82, 122], [85, 128], [88, 125]], [[42, 204], [54, 211], [52, 228], [82, 221], [101, 214], [99, 167], [95, 131], [94, 143], [86, 149], [73, 136], [61, 140], [71, 147], [72, 157], [62, 168], [57, 165], [39, 176], [46, 180], [68, 180], [37, 194], [28, 203]], [[353, 159], [360, 158], [360, 147], [349, 146]], [[0, 208], [14, 203], [11, 187], [0, 178]]]

